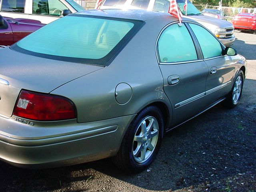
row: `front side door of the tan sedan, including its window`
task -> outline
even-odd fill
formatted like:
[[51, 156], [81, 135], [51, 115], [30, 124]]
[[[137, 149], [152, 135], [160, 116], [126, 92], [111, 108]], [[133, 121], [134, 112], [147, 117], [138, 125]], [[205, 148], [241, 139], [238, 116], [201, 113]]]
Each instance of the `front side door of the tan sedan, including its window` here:
[[222, 98], [232, 88], [236, 64], [224, 54], [224, 46], [215, 36], [199, 24], [190, 23], [199, 42], [204, 62], [209, 68], [206, 79], [206, 100], [208, 104]]

